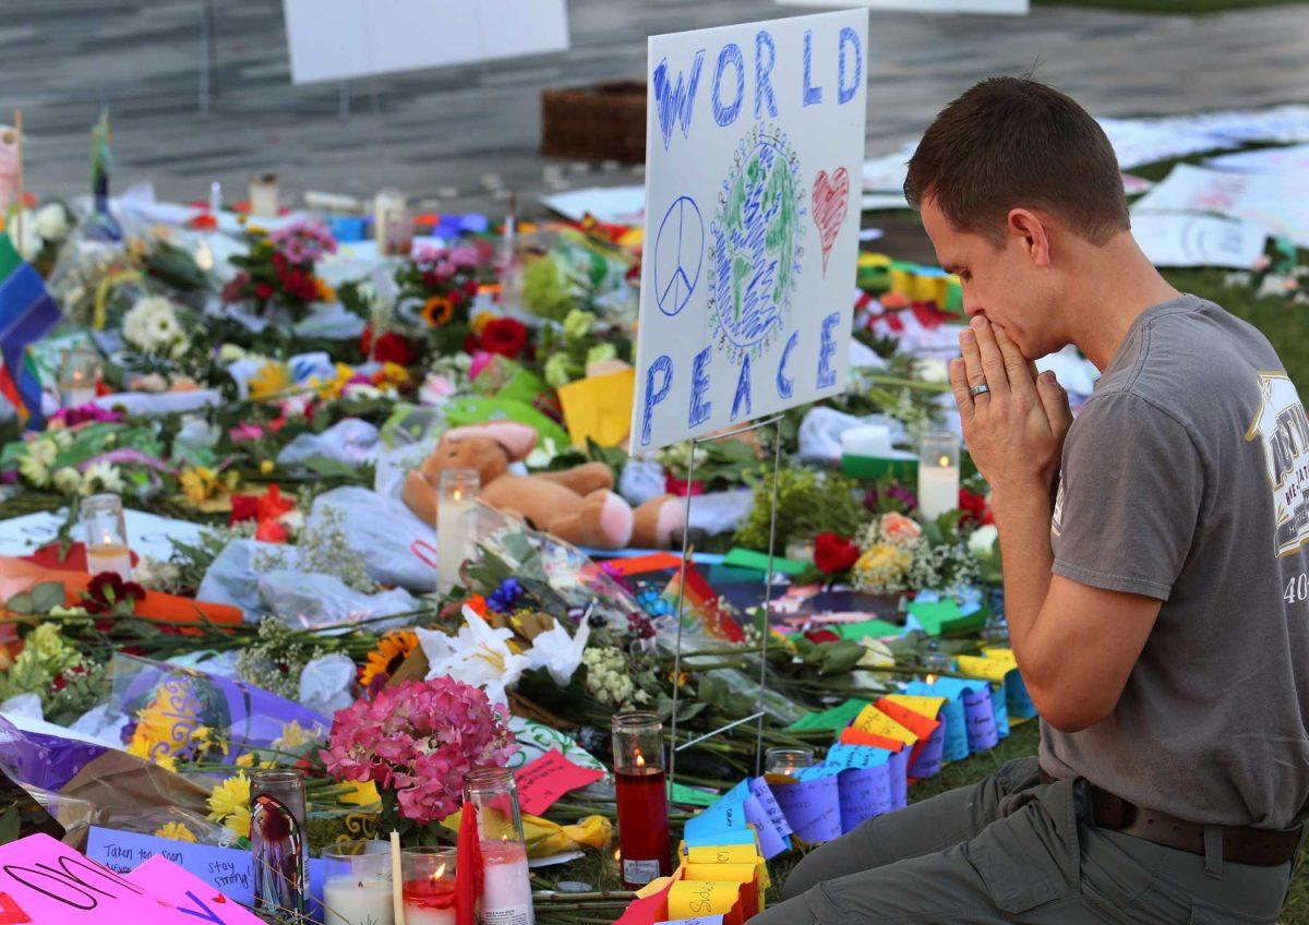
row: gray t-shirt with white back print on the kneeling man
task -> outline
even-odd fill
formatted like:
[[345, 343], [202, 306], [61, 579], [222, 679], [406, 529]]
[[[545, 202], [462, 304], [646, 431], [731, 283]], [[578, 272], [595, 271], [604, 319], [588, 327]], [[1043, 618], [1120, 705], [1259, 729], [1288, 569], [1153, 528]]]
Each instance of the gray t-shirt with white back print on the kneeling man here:
[[1250, 324], [1148, 309], [1068, 432], [1054, 572], [1164, 602], [1109, 718], [1041, 761], [1190, 822], [1309, 802], [1309, 421]]

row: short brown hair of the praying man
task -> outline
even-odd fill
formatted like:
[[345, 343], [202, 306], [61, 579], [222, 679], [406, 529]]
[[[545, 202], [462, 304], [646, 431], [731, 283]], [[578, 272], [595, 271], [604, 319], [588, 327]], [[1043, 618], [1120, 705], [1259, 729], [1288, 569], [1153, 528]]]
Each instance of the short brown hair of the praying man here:
[[991, 77], [932, 122], [908, 162], [905, 198], [999, 246], [1009, 209], [1059, 216], [1092, 243], [1131, 228], [1114, 149], [1071, 97], [1029, 77]]

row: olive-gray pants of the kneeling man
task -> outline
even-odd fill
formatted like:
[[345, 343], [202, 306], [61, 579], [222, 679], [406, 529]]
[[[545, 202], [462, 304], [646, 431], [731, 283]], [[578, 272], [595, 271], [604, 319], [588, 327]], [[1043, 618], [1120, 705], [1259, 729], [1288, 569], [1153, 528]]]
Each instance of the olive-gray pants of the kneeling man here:
[[1210, 862], [1086, 823], [1037, 759], [869, 819], [816, 849], [753, 925], [1276, 922], [1291, 865]]

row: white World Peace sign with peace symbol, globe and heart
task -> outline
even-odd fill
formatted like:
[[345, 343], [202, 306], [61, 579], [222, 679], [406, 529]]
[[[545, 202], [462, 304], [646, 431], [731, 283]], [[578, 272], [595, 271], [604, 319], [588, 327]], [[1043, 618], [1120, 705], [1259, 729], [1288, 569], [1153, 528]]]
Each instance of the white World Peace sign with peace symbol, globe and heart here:
[[649, 39], [634, 453], [846, 387], [867, 35], [848, 10]]

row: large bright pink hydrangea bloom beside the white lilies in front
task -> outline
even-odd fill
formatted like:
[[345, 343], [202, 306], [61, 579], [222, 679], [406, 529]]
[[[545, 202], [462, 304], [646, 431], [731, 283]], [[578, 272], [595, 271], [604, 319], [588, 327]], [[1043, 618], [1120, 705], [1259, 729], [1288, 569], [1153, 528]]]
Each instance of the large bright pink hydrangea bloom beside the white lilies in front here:
[[338, 710], [322, 758], [336, 780], [393, 790], [401, 815], [420, 824], [459, 809], [463, 776], [503, 768], [517, 750], [509, 713], [449, 676], [382, 689]]

